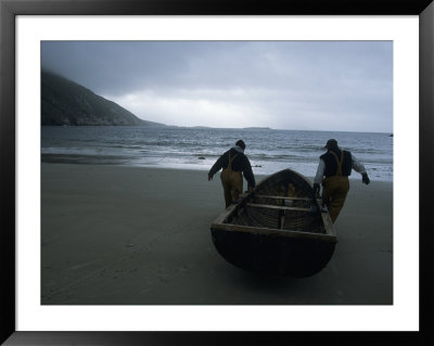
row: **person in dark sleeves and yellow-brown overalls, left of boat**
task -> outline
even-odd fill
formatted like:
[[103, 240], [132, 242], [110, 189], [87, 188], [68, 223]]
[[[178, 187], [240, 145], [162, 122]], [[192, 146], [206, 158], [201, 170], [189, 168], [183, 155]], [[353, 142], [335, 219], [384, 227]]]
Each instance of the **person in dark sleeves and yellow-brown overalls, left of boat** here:
[[[222, 168], [220, 179], [224, 187], [226, 207], [237, 202], [243, 192], [243, 176], [247, 180], [248, 191], [255, 188], [255, 176], [251, 163], [244, 154], [245, 143], [239, 140], [235, 146], [225, 152], [213, 165], [208, 172], [208, 181]], [[242, 172], [242, 174], [241, 174]]]

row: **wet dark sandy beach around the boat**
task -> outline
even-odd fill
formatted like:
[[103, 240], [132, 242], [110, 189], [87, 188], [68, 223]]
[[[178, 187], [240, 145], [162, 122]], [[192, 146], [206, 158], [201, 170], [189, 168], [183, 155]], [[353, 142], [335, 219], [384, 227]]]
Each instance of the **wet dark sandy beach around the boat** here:
[[41, 303], [391, 305], [393, 183], [350, 184], [327, 268], [306, 279], [265, 278], [213, 245], [209, 226], [225, 208], [218, 176], [43, 163]]

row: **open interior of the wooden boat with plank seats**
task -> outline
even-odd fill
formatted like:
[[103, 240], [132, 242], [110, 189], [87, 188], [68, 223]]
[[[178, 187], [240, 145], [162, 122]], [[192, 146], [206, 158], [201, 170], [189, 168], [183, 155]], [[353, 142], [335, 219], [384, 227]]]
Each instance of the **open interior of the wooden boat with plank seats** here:
[[306, 178], [285, 169], [267, 177], [253, 192], [244, 194], [213, 227], [282, 235], [335, 236], [330, 217], [320, 203], [314, 198], [311, 183]]

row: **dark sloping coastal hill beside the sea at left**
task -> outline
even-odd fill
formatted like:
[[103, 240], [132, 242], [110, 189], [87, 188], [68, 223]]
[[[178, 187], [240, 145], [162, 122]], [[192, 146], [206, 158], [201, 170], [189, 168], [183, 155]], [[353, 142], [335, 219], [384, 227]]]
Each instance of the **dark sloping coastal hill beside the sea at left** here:
[[41, 125], [164, 126], [139, 119], [91, 90], [44, 71], [41, 74]]

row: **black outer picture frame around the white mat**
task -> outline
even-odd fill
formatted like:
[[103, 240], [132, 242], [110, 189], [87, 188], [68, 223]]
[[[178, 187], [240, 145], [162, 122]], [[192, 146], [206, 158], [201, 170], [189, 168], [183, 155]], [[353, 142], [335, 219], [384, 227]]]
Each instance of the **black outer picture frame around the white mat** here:
[[[15, 18], [17, 15], [418, 15], [420, 22], [419, 332], [17, 332], [15, 330]], [[434, 344], [433, 235], [430, 197], [434, 148], [434, 3], [432, 0], [0, 0], [0, 342], [5, 345], [266, 345], [269, 343], [352, 345]], [[417, 222], [414, 222], [414, 227]], [[418, 231], [409, 230], [409, 231]]]

